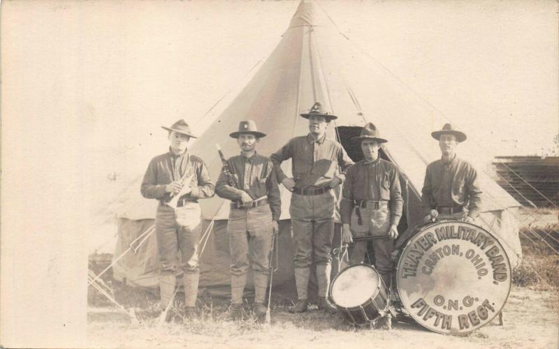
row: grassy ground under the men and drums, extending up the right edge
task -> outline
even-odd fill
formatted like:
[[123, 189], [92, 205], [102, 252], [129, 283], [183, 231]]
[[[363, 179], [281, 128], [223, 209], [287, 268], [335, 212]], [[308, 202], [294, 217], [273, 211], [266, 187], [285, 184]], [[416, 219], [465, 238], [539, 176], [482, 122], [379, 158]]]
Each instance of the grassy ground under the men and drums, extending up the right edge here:
[[[513, 274], [503, 326], [493, 320], [467, 335], [444, 336], [402, 317], [393, 321], [391, 331], [356, 328], [315, 306], [290, 314], [290, 302], [280, 297], [273, 297], [272, 324], [264, 325], [250, 310], [247, 320], [231, 320], [228, 300], [207, 292], [198, 299], [198, 318], [182, 318], [179, 296], [173, 322], [159, 326], [157, 292], [113, 283], [108, 272], [104, 280], [115, 299], [126, 309], [136, 309], [138, 323], [90, 290], [89, 341], [103, 348], [559, 348], [559, 255], [552, 250], [559, 251], [557, 211], [537, 214], [538, 219], [521, 216], [524, 258]], [[92, 267], [99, 272], [102, 266]]]

